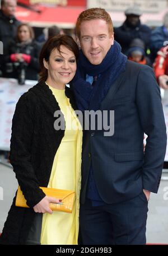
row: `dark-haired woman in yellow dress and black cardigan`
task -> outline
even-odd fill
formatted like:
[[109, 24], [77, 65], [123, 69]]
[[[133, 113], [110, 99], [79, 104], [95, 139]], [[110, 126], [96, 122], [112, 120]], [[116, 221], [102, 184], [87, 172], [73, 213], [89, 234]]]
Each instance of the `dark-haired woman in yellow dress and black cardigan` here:
[[[13, 199], [0, 237], [3, 244], [77, 244], [82, 129], [66, 87], [76, 72], [77, 57], [71, 36], [46, 41], [40, 53], [40, 82], [16, 105], [10, 161], [30, 208], [16, 207]], [[54, 125], [56, 110], [63, 114], [63, 129]], [[59, 198], [46, 197], [39, 187], [75, 190], [72, 213], [52, 212], [49, 203]]]

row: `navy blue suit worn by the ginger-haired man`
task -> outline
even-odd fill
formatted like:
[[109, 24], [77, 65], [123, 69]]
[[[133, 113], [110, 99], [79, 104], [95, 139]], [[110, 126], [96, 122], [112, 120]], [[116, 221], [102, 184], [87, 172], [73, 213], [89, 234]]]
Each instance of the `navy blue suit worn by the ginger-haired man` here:
[[[143, 189], [157, 193], [166, 151], [160, 89], [152, 68], [128, 60], [100, 110], [114, 110], [114, 134], [83, 131], [83, 243], [145, 244], [148, 207]], [[92, 206], [86, 196], [91, 162], [102, 206]]]

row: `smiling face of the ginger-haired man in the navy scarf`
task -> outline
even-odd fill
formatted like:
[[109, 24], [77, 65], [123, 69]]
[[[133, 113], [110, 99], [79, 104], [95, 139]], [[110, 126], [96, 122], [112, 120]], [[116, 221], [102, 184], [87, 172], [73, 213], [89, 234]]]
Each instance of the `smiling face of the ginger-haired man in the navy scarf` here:
[[81, 23], [80, 44], [91, 64], [98, 65], [114, 44], [114, 33], [109, 33], [105, 20], [96, 19]]

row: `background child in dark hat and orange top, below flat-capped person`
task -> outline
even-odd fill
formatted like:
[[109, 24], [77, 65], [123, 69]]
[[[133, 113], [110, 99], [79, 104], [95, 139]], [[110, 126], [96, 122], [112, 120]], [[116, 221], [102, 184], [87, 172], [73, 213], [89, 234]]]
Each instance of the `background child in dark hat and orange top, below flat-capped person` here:
[[144, 43], [139, 38], [133, 39], [130, 43], [127, 55], [129, 60], [152, 66], [150, 58], [146, 56]]

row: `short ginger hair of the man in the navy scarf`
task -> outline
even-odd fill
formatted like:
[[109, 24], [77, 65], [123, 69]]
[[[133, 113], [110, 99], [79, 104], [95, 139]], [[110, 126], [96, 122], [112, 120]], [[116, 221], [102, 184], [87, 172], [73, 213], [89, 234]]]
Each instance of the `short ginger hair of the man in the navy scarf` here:
[[109, 33], [113, 34], [113, 22], [108, 12], [105, 11], [103, 8], [90, 8], [80, 13], [77, 18], [76, 22], [76, 34], [77, 37], [80, 38], [80, 31], [81, 31], [81, 23], [83, 21], [90, 21], [90, 20], [105, 20], [109, 26]]

